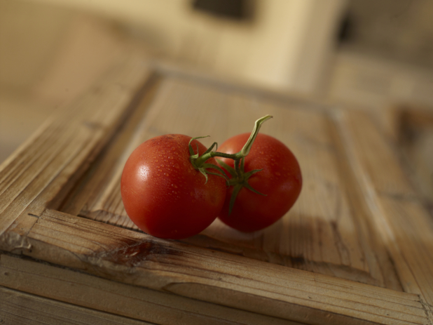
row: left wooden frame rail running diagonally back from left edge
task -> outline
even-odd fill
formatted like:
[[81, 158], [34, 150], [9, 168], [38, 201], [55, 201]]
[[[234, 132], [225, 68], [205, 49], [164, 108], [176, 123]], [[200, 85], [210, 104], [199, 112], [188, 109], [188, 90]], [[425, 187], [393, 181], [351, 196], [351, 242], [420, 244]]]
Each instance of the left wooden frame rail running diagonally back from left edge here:
[[102, 82], [45, 126], [26, 150], [18, 150], [0, 170], [0, 234], [19, 215], [41, 213], [71, 178], [85, 171], [90, 161], [121, 124], [139, 89], [149, 79], [142, 60], [121, 60]]

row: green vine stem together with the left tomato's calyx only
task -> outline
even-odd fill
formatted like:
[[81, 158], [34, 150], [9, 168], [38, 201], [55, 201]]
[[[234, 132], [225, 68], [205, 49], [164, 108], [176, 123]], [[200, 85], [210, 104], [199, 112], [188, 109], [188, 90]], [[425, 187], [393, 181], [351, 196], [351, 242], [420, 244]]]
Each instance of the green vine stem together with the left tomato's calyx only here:
[[[203, 153], [201, 156], [199, 156], [198, 148], [197, 148], [197, 154], [195, 154], [193, 147], [191, 145], [191, 142], [195, 139], [207, 138], [207, 137], [192, 138], [188, 144], [188, 150], [189, 150], [189, 153], [191, 155], [190, 156], [191, 164], [193, 164], [193, 167], [196, 170], [200, 171], [203, 175], [205, 175], [206, 182], [207, 182], [207, 174], [219, 175], [219, 176], [223, 177], [224, 179], [226, 179], [226, 181], [228, 182], [228, 179], [225, 176], [226, 174], [224, 173], [224, 171], [219, 166], [216, 166], [214, 164], [206, 164], [206, 161], [210, 158], [213, 158], [213, 157], [224, 157], [224, 158], [228, 158], [228, 159], [233, 159], [235, 161], [235, 171], [236, 171], [236, 176], [237, 176], [236, 178], [239, 181], [241, 181], [243, 178], [245, 178], [244, 174], [243, 174], [243, 160], [244, 160], [243, 158], [247, 157], [247, 155], [249, 154], [249, 151], [251, 150], [251, 147], [254, 143], [254, 140], [256, 140], [256, 137], [259, 134], [259, 130], [261, 128], [261, 125], [265, 121], [268, 121], [268, 119], [271, 119], [271, 118], [272, 118], [272, 116], [266, 115], [265, 117], [258, 119], [254, 123], [253, 131], [252, 131], [251, 135], [249, 136], [249, 139], [245, 143], [244, 147], [242, 147], [242, 150], [240, 150], [240, 152], [237, 152], [235, 154], [225, 154], [224, 152], [212, 151], [214, 149], [214, 147], [217, 146], [217, 142], [214, 142], [209, 147], [209, 149], [206, 150], [205, 153]], [[219, 171], [221, 173], [221, 175], [219, 173], [213, 173], [211, 171], [207, 171], [207, 168], [214, 168], [217, 171]], [[228, 185], [230, 185], [229, 182], [228, 182]]]

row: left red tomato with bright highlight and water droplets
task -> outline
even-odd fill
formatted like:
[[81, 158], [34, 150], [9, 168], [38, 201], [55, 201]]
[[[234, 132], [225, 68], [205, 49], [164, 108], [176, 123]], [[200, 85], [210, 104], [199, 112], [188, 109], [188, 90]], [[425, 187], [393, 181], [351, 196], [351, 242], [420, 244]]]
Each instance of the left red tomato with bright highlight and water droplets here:
[[[131, 220], [155, 237], [182, 239], [209, 226], [224, 204], [226, 181], [205, 176], [190, 161], [191, 137], [161, 135], [143, 142], [128, 158], [121, 179], [122, 200]], [[191, 145], [200, 155], [206, 147]], [[217, 164], [209, 159], [209, 164]], [[217, 172], [216, 170], [211, 170]]]

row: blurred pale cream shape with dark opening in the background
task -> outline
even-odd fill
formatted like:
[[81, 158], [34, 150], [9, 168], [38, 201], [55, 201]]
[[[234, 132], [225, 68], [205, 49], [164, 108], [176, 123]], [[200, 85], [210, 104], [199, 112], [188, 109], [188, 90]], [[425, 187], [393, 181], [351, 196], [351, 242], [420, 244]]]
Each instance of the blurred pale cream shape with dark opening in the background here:
[[[14, 6], [11, 0], [6, 2]], [[95, 13], [175, 60], [273, 87], [309, 90], [333, 45], [345, 4], [345, 0], [238, 0], [245, 13], [236, 18], [212, 15], [203, 10], [205, 5], [197, 5], [200, 2], [236, 0], [35, 0], [29, 5]], [[61, 29], [64, 22], [58, 23]]]

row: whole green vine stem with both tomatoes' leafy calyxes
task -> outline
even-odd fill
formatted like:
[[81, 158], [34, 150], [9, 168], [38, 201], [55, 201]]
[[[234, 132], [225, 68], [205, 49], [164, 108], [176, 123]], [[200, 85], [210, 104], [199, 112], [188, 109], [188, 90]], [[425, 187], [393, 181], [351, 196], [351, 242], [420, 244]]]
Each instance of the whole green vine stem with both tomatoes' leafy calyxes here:
[[[249, 139], [245, 143], [244, 147], [242, 147], [242, 150], [240, 152], [237, 152], [235, 154], [225, 154], [224, 152], [217, 152], [212, 151], [214, 147], [217, 147], [217, 142], [214, 142], [209, 149], [206, 150], [201, 156], [198, 154], [198, 147], [197, 147], [197, 153], [195, 154], [193, 147], [191, 145], [191, 142], [195, 139], [200, 138], [207, 138], [207, 137], [197, 137], [192, 138], [188, 144], [188, 150], [190, 154], [190, 160], [191, 164], [193, 164], [193, 167], [200, 171], [203, 175], [205, 175], [206, 183], [207, 183], [207, 175], [217, 175], [226, 180], [226, 183], [228, 186], [233, 186], [233, 194], [231, 196], [230, 200], [230, 207], [229, 207], [229, 214], [231, 213], [233, 206], [235, 204], [235, 199], [238, 196], [238, 193], [242, 189], [242, 187], [246, 187], [248, 190], [251, 190], [252, 192], [256, 194], [261, 194], [260, 192], [254, 190], [254, 188], [249, 185], [248, 178], [250, 178], [254, 173], [258, 173], [261, 171], [261, 169], [255, 169], [254, 171], [249, 171], [247, 173], [244, 172], [244, 161], [245, 157], [249, 154], [249, 151], [251, 150], [251, 147], [254, 143], [254, 140], [256, 140], [257, 135], [259, 134], [259, 130], [261, 128], [261, 124], [263, 124], [268, 119], [271, 119], [272, 116], [266, 115], [265, 117], [262, 117], [261, 119], [258, 119], [255, 124], [253, 131], [251, 135], [249, 136]], [[231, 180], [228, 180], [226, 177], [226, 173], [217, 165], [214, 164], [207, 164], [206, 161], [213, 157], [224, 157], [228, 159], [233, 159], [235, 161], [235, 168], [232, 168], [231, 166], [228, 166], [227, 164], [224, 164], [222, 161], [218, 161], [221, 166], [226, 168], [226, 171], [231, 174], [232, 178]], [[212, 171], [209, 171], [209, 169], [215, 169], [219, 171], [220, 173], [214, 173]], [[264, 194], [261, 194], [264, 195]]]

